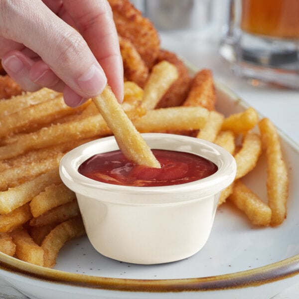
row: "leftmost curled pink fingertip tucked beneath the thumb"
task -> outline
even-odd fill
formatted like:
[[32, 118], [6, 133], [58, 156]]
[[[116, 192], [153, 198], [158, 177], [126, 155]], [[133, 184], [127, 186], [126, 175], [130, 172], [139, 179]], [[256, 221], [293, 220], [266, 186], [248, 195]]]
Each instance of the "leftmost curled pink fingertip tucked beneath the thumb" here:
[[29, 79], [29, 71], [34, 61], [20, 51], [7, 52], [1, 60], [6, 73], [26, 91], [36, 91], [40, 85]]

